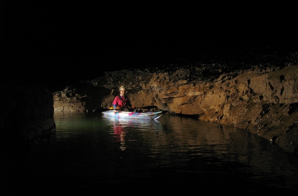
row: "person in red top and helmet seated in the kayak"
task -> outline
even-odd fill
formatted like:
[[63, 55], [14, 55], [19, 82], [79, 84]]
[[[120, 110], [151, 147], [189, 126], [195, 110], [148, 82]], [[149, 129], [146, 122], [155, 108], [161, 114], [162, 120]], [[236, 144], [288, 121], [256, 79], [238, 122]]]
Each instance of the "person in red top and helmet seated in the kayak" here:
[[116, 110], [122, 110], [125, 112], [132, 112], [137, 109], [133, 106], [128, 98], [128, 96], [124, 96], [126, 92], [125, 86], [121, 86], [119, 88], [120, 95], [117, 95], [113, 101], [113, 107]]

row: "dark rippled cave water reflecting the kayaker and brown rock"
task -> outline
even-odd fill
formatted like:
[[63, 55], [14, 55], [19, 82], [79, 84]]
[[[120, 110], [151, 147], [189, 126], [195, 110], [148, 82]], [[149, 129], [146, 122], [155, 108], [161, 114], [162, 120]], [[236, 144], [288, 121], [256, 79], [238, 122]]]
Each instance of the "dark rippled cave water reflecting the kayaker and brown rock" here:
[[9, 194], [298, 193], [297, 157], [240, 129], [172, 115], [54, 117], [49, 144], [4, 160]]

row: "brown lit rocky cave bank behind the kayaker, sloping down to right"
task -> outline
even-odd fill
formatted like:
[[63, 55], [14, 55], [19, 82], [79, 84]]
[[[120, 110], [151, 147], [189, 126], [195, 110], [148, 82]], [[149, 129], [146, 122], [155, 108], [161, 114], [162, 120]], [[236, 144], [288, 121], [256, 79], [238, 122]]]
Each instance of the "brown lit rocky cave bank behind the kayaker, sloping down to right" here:
[[[298, 152], [298, 66], [185, 65], [105, 72], [55, 92], [55, 111], [109, 108], [125, 85], [131, 102], [258, 134]], [[170, 68], [169, 68], [170, 67]]]

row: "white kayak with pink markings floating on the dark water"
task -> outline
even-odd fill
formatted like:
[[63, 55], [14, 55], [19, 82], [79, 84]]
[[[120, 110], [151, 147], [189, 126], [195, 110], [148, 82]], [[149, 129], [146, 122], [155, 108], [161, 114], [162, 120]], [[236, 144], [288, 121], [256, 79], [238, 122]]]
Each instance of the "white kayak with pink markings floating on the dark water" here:
[[115, 117], [115, 118], [124, 118], [124, 119], [151, 119], [156, 120], [159, 119], [163, 112], [124, 112], [118, 110], [108, 110], [105, 112], [101, 112], [103, 116], [107, 117]]

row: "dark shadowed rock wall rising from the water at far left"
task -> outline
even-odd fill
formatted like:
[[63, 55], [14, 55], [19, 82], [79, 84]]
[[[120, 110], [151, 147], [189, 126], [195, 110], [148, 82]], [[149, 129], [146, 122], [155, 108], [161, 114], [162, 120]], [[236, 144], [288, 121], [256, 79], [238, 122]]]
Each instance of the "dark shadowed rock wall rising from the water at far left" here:
[[3, 151], [34, 149], [56, 132], [52, 92], [44, 86], [3, 84], [0, 130]]

